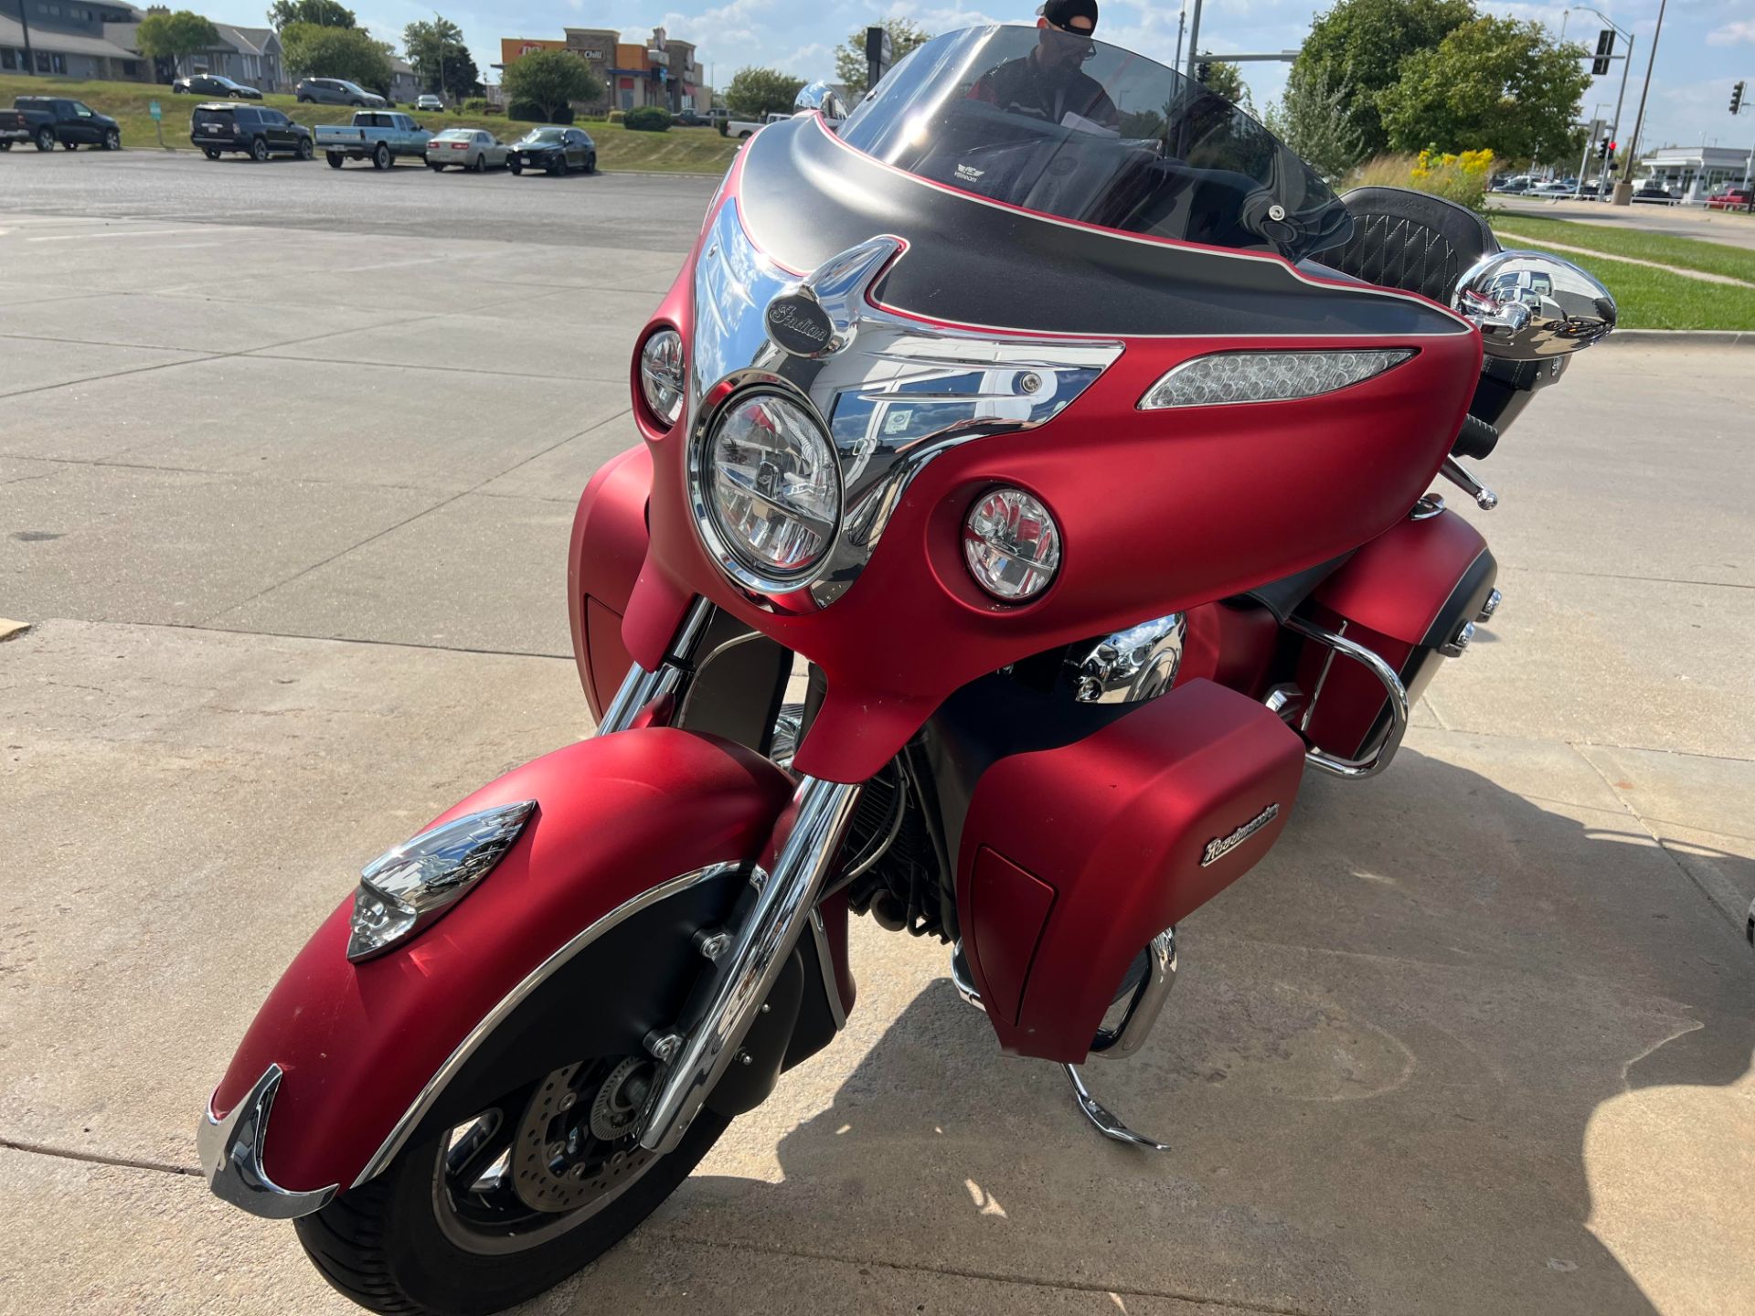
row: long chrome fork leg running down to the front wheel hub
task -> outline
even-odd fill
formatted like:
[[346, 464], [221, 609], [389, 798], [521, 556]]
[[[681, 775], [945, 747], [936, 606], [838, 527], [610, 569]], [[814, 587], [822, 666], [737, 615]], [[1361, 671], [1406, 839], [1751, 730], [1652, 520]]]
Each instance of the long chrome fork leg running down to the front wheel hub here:
[[797, 944], [846, 833], [858, 784], [804, 777], [793, 795], [792, 828], [769, 881], [737, 932], [737, 946], [714, 965], [713, 988], [677, 1023], [686, 1041], [653, 1093], [641, 1146], [672, 1151], [713, 1084], [720, 1081], [762, 1002]]

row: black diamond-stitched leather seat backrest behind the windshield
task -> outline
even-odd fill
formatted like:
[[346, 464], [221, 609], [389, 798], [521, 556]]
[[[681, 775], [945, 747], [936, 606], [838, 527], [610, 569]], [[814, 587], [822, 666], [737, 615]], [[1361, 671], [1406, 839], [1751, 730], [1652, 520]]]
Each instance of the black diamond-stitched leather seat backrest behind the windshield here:
[[1353, 237], [1318, 258], [1343, 274], [1450, 305], [1457, 279], [1499, 251], [1494, 230], [1467, 205], [1408, 188], [1353, 188], [1341, 198]]

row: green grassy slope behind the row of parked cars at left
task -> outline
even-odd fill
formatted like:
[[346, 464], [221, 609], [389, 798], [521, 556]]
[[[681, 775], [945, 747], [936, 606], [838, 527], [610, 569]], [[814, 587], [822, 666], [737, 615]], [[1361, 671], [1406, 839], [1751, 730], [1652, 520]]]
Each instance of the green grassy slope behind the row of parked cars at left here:
[[[193, 151], [190, 144], [190, 111], [202, 104], [200, 97], [174, 97], [170, 88], [149, 82], [75, 82], [65, 77], [25, 77], [0, 74], [0, 105], [11, 105], [12, 97], [72, 97], [82, 100], [98, 114], [109, 114], [121, 125], [125, 149], [158, 149], [149, 104], [156, 100], [165, 112], [165, 146], [176, 151]], [[246, 102], [254, 105], [256, 102]], [[353, 111], [346, 105], [300, 105], [291, 97], [265, 97], [265, 105], [284, 111], [295, 123], [347, 123]], [[523, 135], [532, 125], [507, 121], [504, 114], [414, 114], [414, 121], [432, 132], [446, 128], [486, 128], [502, 142]], [[658, 174], [723, 174], [737, 154], [737, 142], [720, 137], [716, 128], [670, 128], [667, 133], [628, 132], [620, 123], [581, 123], [597, 142], [597, 163], [607, 170], [639, 170]], [[14, 147], [18, 149], [18, 147]]]

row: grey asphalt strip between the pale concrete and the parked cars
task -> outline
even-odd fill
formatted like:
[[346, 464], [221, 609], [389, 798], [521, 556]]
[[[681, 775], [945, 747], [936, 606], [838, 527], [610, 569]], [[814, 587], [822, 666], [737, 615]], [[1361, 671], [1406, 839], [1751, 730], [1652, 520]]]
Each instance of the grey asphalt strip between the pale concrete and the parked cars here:
[[462, 237], [544, 247], [679, 251], [693, 240], [718, 179], [691, 174], [512, 177], [433, 174], [414, 161], [377, 172], [349, 161], [190, 151], [121, 154], [9, 151], [0, 209], [30, 214], [242, 223], [335, 233]]

